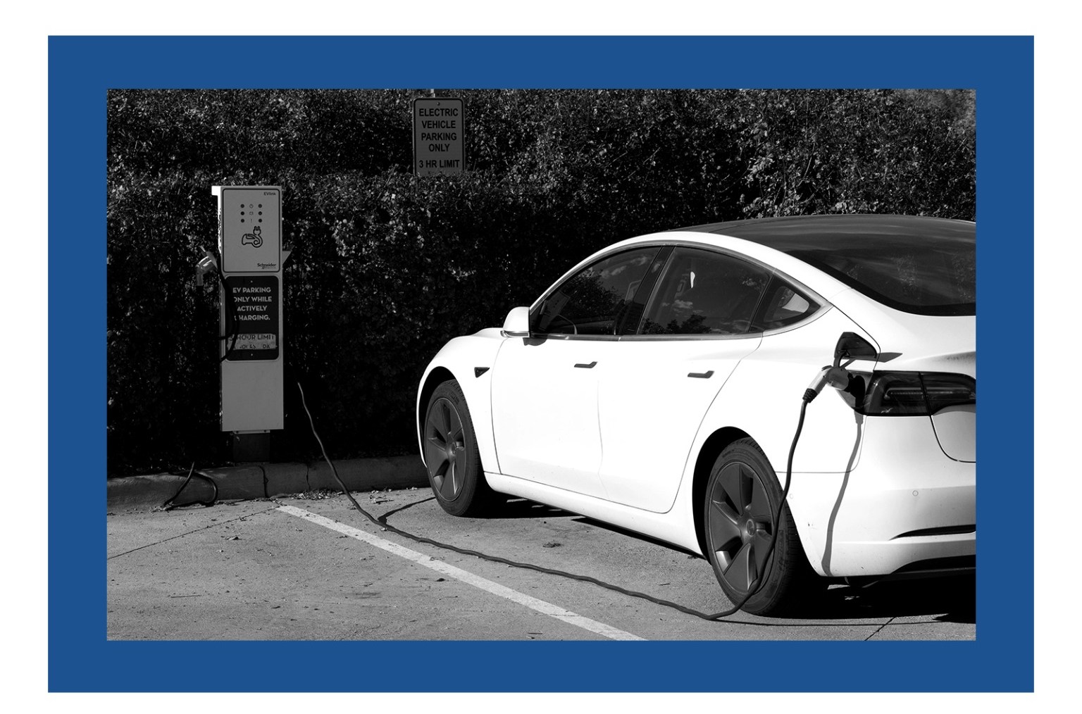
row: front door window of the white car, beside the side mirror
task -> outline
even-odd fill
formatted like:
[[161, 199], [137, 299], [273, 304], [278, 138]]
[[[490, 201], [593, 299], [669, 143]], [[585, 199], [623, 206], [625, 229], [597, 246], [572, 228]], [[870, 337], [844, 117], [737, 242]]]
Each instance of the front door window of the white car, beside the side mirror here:
[[[633, 310], [635, 294], [660, 250], [655, 246], [616, 253], [580, 270], [545, 298], [532, 316], [530, 330], [540, 334], [616, 334]], [[647, 282], [652, 283], [652, 279]]]

